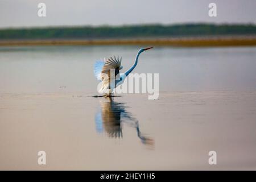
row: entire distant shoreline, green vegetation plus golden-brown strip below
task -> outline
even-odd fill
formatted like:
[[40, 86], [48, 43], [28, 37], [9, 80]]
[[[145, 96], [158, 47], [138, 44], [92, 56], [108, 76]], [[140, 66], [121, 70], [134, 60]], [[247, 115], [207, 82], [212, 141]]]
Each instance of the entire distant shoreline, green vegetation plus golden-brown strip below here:
[[139, 24], [0, 29], [0, 46], [256, 46], [256, 24]]

